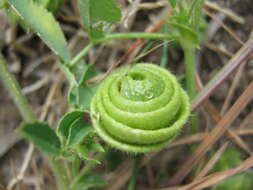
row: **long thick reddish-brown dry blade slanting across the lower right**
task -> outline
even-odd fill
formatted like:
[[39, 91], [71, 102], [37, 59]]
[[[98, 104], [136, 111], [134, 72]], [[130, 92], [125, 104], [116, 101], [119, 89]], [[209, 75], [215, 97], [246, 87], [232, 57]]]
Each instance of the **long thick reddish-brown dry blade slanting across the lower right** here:
[[207, 153], [210, 147], [226, 132], [232, 122], [237, 118], [241, 111], [253, 98], [253, 82], [243, 92], [239, 99], [234, 103], [230, 110], [218, 122], [216, 127], [212, 130], [209, 138], [199, 145], [192, 156], [182, 165], [180, 170], [169, 181], [170, 185], [177, 185], [191, 172], [193, 167], [200, 161], [200, 159]]

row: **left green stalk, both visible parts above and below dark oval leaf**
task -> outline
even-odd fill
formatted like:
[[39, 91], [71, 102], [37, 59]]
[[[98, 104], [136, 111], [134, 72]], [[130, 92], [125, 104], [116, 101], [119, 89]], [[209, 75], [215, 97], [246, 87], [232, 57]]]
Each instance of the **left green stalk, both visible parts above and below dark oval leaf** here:
[[[27, 99], [22, 94], [20, 86], [18, 82], [12, 75], [12, 73], [8, 70], [7, 65], [5, 63], [5, 59], [0, 54], [0, 78], [3, 81], [4, 86], [8, 90], [10, 96], [14, 100], [15, 105], [17, 106], [20, 114], [26, 122], [36, 121], [37, 118], [32, 111], [31, 107], [28, 104]], [[54, 172], [54, 175], [57, 179], [57, 184], [59, 189], [68, 190], [68, 184], [66, 180], [65, 171], [59, 162], [56, 162], [52, 157], [47, 156], [49, 165]]]

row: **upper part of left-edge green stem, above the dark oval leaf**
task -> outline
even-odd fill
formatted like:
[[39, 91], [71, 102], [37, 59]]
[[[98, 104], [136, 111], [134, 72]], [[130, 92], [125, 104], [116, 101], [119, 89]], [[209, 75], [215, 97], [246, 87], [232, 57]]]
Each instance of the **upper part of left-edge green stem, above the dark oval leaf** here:
[[9, 72], [5, 60], [1, 54], [0, 54], [0, 78], [3, 81], [4, 86], [8, 90], [11, 98], [14, 100], [24, 120], [27, 122], [35, 121], [36, 116], [34, 115], [34, 112], [30, 109], [27, 99], [22, 95], [16, 79]]

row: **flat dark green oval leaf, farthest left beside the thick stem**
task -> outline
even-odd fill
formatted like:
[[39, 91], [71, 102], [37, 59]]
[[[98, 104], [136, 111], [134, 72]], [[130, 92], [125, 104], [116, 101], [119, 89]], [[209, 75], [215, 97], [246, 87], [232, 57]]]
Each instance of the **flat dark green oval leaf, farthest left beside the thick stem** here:
[[55, 156], [60, 155], [60, 140], [47, 123], [24, 123], [19, 132], [42, 151]]

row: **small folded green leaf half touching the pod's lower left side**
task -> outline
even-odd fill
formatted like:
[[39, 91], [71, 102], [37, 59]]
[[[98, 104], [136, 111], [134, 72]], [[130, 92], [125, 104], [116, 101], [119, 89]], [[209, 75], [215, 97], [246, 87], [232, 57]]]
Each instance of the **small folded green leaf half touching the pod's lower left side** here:
[[74, 147], [80, 144], [90, 132], [93, 131], [92, 126], [87, 124], [82, 117], [79, 117], [70, 126], [69, 137], [67, 140], [67, 146]]

